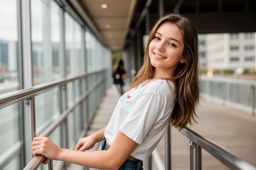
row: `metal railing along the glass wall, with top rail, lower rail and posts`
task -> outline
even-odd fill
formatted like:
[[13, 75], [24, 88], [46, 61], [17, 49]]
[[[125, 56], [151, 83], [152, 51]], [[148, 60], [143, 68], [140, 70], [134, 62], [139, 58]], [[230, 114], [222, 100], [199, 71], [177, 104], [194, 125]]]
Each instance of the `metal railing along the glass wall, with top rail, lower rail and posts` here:
[[[97, 73], [101, 73], [104, 72], [105, 69], [100, 70], [100, 71], [96, 71], [96, 72], [91, 72], [91, 73], [86, 73], [86, 74], [82, 74], [79, 75], [77, 77], [73, 77], [73, 78], [68, 78], [65, 80], [61, 80], [61, 81], [54, 81], [54, 82], [50, 82], [50, 83], [44, 83], [44, 84], [40, 84], [38, 86], [34, 86], [28, 89], [22, 89], [22, 90], [17, 90], [14, 92], [10, 92], [10, 93], [6, 93], [3, 95], [0, 95], [0, 109], [7, 107], [9, 105], [15, 104], [16, 102], [25, 100], [25, 99], [30, 99], [31, 100], [31, 114], [32, 114], [32, 133], [33, 136], [35, 136], [35, 120], [34, 120], [34, 115], [35, 115], [35, 103], [34, 103], [34, 97], [36, 95], [39, 95], [40, 93], [49, 91], [53, 88], [61, 88], [61, 87], [65, 87], [67, 83], [69, 82], [74, 82], [75, 80], [81, 80], [83, 78], [86, 78], [90, 75], [94, 75]], [[55, 120], [47, 129], [45, 129], [42, 133], [41, 136], [49, 136], [60, 124], [62, 124], [65, 119], [67, 118], [67, 116], [79, 105], [81, 104], [81, 102], [83, 102], [88, 95], [93, 92], [103, 81], [105, 80], [105, 77], [100, 79], [98, 82], [96, 82], [93, 86], [90, 86], [90, 89], [88, 89], [83, 95], [81, 95], [81, 97], [75, 101], [75, 103], [67, 108], [67, 110], [65, 111], [61, 111], [61, 116], [58, 117], [57, 120]], [[81, 86], [81, 84], [80, 84]], [[81, 90], [81, 89], [80, 89]], [[61, 94], [61, 93], [60, 93]], [[61, 97], [61, 96], [60, 96]], [[15, 145], [16, 146], [16, 145]], [[4, 168], [11, 160], [13, 160], [13, 158], [15, 157], [15, 155], [17, 155], [17, 153], [19, 152], [15, 152], [15, 151], [19, 151], [19, 149], [21, 148], [21, 144], [20, 142], [17, 143], [18, 147], [14, 147], [10, 150], [8, 150], [5, 153], [5, 156], [3, 157], [3, 155], [0, 156], [0, 169]], [[25, 169], [37, 169], [40, 164], [42, 163], [42, 161], [45, 159], [44, 156], [42, 155], [36, 155], [30, 162], [29, 164], [26, 165]], [[52, 162], [50, 162], [52, 165]], [[52, 169], [52, 167], [50, 168]]]

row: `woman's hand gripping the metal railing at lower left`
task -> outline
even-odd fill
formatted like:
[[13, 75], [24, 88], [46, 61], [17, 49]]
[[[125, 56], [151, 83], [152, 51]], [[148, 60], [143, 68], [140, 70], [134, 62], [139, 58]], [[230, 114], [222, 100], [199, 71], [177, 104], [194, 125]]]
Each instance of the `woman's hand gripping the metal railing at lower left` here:
[[48, 137], [35, 137], [32, 142], [33, 155], [43, 155], [46, 158], [58, 160], [62, 148], [54, 144]]

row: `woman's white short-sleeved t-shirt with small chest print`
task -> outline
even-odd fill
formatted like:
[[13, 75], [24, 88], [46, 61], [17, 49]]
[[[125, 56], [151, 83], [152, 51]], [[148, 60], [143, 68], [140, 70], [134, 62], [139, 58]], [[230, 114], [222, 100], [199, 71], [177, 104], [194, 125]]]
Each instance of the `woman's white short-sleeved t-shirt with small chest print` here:
[[170, 123], [175, 98], [175, 85], [166, 80], [155, 80], [126, 92], [118, 100], [106, 127], [104, 136], [107, 143], [112, 145], [121, 131], [138, 143], [130, 155], [138, 160], [146, 160]]

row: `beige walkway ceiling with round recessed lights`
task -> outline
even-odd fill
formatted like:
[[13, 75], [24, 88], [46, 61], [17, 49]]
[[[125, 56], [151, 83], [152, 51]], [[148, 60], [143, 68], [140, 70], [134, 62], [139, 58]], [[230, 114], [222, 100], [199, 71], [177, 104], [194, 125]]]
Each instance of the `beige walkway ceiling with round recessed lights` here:
[[[137, 0], [80, 0], [91, 20], [113, 51], [122, 50]], [[107, 4], [108, 8], [101, 8]]]

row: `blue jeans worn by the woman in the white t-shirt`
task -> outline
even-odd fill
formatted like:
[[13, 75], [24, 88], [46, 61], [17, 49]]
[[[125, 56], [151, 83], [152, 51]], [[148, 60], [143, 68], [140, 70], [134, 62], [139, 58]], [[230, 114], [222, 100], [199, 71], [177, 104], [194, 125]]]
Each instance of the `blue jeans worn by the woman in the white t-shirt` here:
[[[106, 144], [106, 138], [103, 138], [102, 147], [101, 150], [108, 150], [109, 145]], [[122, 166], [119, 168], [119, 170], [143, 170], [143, 161], [137, 160], [126, 160]]]

